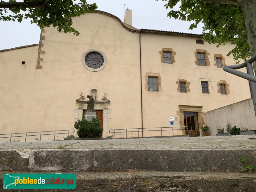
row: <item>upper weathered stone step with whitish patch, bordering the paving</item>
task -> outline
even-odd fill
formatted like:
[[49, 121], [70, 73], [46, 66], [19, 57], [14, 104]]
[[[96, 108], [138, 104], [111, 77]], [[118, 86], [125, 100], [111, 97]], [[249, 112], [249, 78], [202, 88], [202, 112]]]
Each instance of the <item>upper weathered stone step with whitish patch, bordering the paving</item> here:
[[0, 171], [155, 170], [239, 172], [247, 159], [256, 165], [253, 149], [36, 149], [0, 150]]

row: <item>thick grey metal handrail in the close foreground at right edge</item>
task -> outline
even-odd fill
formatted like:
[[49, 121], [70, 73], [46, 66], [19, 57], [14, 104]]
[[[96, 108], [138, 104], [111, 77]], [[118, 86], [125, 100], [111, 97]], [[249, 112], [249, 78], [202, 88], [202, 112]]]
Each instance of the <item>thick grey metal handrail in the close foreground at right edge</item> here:
[[[231, 66], [225, 66], [223, 67], [223, 70], [231, 73], [233, 75], [242, 77], [244, 79], [249, 80], [250, 84], [250, 89], [252, 93], [252, 102], [253, 102], [253, 107], [254, 107], [254, 112], [255, 112], [255, 117], [256, 117], [256, 77], [254, 76], [253, 73], [253, 68], [252, 68], [252, 63], [256, 61], [256, 55], [252, 56], [250, 59], [245, 61], [244, 63], [241, 63], [239, 65], [231, 65]], [[237, 71], [236, 69], [241, 69], [246, 67], [247, 73]], [[254, 69], [255, 70], [255, 69]]]

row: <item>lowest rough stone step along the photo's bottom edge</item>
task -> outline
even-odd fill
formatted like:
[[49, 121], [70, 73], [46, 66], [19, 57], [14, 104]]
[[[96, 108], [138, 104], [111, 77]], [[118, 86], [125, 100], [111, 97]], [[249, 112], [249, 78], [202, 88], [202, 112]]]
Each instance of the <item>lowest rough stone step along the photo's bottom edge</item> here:
[[[0, 188], [3, 188], [4, 173], [43, 172], [0, 172]], [[44, 172], [47, 173], [47, 172]], [[52, 173], [52, 172], [51, 172]], [[58, 172], [60, 173], [60, 172]], [[63, 172], [67, 173], [67, 172]], [[70, 172], [74, 173], [74, 172]], [[225, 172], [75, 172], [76, 189], [43, 189], [46, 192], [133, 192], [133, 191], [176, 191], [176, 192], [255, 192], [256, 175]], [[20, 192], [20, 189], [12, 189]], [[42, 191], [42, 189], [26, 189]]]

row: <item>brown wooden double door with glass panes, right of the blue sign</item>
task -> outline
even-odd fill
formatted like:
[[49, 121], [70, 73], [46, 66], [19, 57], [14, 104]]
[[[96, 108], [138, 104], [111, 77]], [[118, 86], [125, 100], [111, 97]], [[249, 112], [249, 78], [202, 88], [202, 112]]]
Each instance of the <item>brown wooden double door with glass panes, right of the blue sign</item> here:
[[197, 112], [184, 112], [184, 124], [188, 126], [188, 130], [185, 130], [186, 135], [200, 136], [198, 127]]

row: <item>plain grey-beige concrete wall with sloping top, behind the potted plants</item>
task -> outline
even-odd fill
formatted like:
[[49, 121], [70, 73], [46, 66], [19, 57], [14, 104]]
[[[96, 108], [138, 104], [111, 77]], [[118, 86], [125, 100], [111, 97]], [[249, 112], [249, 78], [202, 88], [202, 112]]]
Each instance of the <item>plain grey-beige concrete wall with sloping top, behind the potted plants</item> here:
[[226, 132], [227, 123], [231, 125], [231, 128], [236, 125], [241, 130], [243, 128], [248, 128], [248, 130], [256, 129], [252, 98], [208, 111], [205, 113], [205, 117], [206, 124], [210, 128], [210, 136], [216, 136], [217, 128], [224, 128], [224, 132]]

